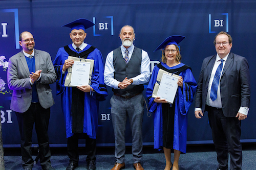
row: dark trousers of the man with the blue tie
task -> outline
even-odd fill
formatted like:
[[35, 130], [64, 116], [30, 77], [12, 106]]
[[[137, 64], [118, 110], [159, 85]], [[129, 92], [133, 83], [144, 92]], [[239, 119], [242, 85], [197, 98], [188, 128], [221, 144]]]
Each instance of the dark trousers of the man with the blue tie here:
[[[230, 106], [232, 107], [232, 106]], [[236, 117], [225, 117], [222, 109], [207, 106], [209, 124], [212, 130], [217, 160], [220, 169], [228, 167], [230, 155], [230, 170], [242, 167], [241, 120]]]

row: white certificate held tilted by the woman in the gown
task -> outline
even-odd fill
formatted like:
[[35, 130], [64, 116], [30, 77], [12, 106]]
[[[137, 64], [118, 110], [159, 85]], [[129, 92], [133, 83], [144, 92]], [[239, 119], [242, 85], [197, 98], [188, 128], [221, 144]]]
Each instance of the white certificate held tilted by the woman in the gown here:
[[172, 74], [163, 74], [161, 83], [158, 88], [157, 96], [165, 99], [168, 103], [173, 104], [178, 89], [179, 76]]

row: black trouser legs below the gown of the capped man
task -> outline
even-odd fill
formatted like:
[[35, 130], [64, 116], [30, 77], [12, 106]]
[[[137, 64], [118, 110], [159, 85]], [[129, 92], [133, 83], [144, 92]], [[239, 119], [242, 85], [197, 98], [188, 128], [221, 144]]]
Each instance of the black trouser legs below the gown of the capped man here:
[[78, 139], [79, 135], [84, 135], [86, 138], [86, 161], [96, 160], [96, 139], [90, 138], [86, 133], [75, 133], [73, 136], [68, 138], [68, 155], [70, 161], [78, 163]]

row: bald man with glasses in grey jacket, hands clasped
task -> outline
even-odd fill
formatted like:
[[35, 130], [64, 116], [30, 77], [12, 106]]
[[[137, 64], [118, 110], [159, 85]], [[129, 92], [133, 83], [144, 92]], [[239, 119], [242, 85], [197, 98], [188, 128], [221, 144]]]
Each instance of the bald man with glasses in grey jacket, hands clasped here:
[[39, 144], [39, 158], [43, 170], [53, 170], [49, 147], [48, 125], [50, 107], [54, 104], [49, 84], [56, 74], [49, 53], [35, 50], [34, 37], [30, 32], [19, 36], [23, 50], [9, 59], [8, 87], [13, 90], [10, 109], [16, 112], [22, 148], [22, 165], [32, 169], [31, 138], [33, 125]]

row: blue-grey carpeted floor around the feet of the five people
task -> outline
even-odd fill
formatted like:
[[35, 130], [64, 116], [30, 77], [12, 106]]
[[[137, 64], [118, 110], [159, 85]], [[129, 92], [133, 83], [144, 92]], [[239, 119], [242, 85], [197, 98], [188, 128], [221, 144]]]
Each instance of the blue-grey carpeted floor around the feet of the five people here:
[[[19, 154], [19, 149], [5, 149], [5, 167], [6, 170], [22, 170], [22, 157]], [[76, 170], [87, 169], [86, 155], [83, 155], [83, 148], [80, 151], [79, 166]], [[152, 149], [152, 147], [143, 148], [143, 167], [145, 170], [161, 170], [164, 169], [165, 158], [162, 151]], [[96, 169], [105, 170], [111, 169], [115, 163], [114, 148], [98, 148], [97, 150]], [[125, 154], [125, 169], [132, 170], [133, 160], [131, 148], [127, 147]], [[36, 155], [36, 152], [34, 152]], [[34, 156], [35, 158], [36, 156]], [[172, 154], [172, 161], [174, 155]], [[52, 149], [52, 166], [56, 170], [65, 170], [69, 163], [69, 158], [66, 155], [66, 148]], [[193, 169], [217, 169], [217, 154], [214, 151], [212, 144], [188, 146], [187, 153], [180, 156], [180, 170]], [[254, 143], [243, 146], [243, 169], [256, 169], [256, 147]], [[34, 170], [41, 169], [40, 163], [34, 165]]]

